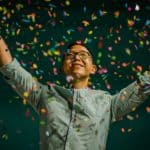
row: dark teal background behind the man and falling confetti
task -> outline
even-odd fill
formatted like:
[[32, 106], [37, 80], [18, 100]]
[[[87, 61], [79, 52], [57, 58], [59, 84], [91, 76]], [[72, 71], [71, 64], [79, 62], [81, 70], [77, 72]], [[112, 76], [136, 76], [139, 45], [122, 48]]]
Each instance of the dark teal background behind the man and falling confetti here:
[[[69, 2], [67, 5], [66, 1], [58, 0], [0, 0], [0, 34], [12, 55], [40, 82], [68, 86], [60, 66], [64, 50], [73, 41], [85, 43], [94, 55], [98, 71], [91, 77], [92, 88], [115, 94], [136, 80], [139, 73], [150, 69], [149, 0]], [[140, 6], [139, 10], [135, 9], [136, 5]], [[114, 15], [116, 11], [118, 17]], [[129, 26], [128, 20], [134, 25]], [[90, 31], [93, 33], [88, 34]], [[44, 56], [48, 51], [51, 55]], [[127, 66], [123, 67], [123, 63]], [[34, 69], [33, 64], [38, 68]], [[107, 72], [100, 73], [103, 68]], [[28, 104], [23, 104], [2, 75], [0, 78], [0, 150], [38, 150], [38, 116]], [[107, 150], [149, 149], [148, 107], [149, 98], [129, 114], [133, 120], [125, 116], [111, 126]], [[125, 129], [124, 133], [121, 128]]]

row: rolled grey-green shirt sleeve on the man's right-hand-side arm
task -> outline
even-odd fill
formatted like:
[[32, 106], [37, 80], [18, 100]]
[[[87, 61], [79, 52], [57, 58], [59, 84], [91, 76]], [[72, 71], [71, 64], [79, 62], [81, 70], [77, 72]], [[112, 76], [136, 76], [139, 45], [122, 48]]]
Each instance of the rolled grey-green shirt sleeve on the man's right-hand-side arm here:
[[112, 122], [120, 120], [134, 110], [150, 95], [150, 75], [143, 74], [138, 80], [111, 97]]

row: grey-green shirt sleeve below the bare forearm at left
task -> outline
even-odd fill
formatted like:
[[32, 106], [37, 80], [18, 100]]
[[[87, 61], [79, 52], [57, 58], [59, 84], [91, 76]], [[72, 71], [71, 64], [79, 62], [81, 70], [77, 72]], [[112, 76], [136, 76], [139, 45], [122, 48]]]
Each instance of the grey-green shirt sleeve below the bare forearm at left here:
[[0, 72], [3, 74], [4, 80], [37, 111], [44, 86], [33, 79], [16, 58], [11, 63], [2, 66]]

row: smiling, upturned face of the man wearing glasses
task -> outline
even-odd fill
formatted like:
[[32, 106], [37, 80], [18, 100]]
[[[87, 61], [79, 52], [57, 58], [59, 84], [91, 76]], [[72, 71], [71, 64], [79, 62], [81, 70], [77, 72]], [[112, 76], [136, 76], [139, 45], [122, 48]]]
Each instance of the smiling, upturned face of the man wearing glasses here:
[[93, 64], [92, 56], [86, 47], [74, 45], [65, 55], [63, 71], [73, 79], [80, 79], [94, 74], [96, 66]]

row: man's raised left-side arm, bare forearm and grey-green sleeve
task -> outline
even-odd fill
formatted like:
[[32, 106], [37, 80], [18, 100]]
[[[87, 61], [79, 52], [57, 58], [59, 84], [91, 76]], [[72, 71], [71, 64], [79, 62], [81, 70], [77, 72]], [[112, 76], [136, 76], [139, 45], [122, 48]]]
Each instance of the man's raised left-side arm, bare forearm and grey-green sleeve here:
[[11, 87], [37, 111], [43, 86], [12, 58], [4, 40], [0, 38], [0, 72]]

